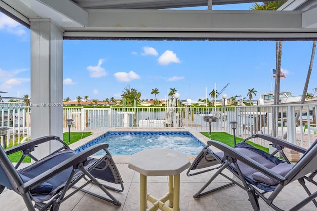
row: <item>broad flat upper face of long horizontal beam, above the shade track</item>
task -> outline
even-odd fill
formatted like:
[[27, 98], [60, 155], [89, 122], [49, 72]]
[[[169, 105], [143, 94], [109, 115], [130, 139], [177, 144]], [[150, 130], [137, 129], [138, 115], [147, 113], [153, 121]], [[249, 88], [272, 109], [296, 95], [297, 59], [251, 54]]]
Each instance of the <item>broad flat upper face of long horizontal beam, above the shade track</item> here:
[[93, 30], [302, 28], [301, 11], [89, 10], [88, 20], [88, 27]]

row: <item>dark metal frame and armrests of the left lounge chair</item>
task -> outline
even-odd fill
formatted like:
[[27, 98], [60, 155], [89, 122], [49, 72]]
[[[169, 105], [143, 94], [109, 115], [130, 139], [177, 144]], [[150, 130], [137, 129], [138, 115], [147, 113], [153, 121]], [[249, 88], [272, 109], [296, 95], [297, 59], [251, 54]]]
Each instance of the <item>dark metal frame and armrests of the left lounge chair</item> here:
[[[60, 147], [50, 155], [46, 156], [45, 158], [49, 156], [54, 157], [56, 153], [62, 153], [65, 150], [72, 151], [70, 150], [69, 146], [57, 136], [45, 136], [37, 138], [32, 141], [23, 143], [19, 146], [7, 149], [5, 151], [2, 147], [0, 147], [0, 173], [2, 174], [2, 176], [3, 174], [5, 174], [6, 176], [6, 180], [4, 179], [4, 181], [0, 182], [0, 193], [3, 192], [5, 187], [14, 190], [22, 196], [27, 209], [30, 211], [35, 210], [35, 208], [40, 211], [44, 211], [47, 209], [50, 209], [51, 211], [57, 211], [62, 202], [67, 200], [70, 196], [74, 195], [78, 191], [84, 191], [85, 193], [98, 197], [117, 206], [121, 205], [121, 203], [107, 190], [111, 189], [117, 192], [122, 192], [124, 189], [120, 173], [115, 166], [110, 153], [107, 150], [108, 144], [96, 144], [77, 154], [73, 153], [71, 157], [57, 164], [53, 168], [48, 169], [41, 174], [35, 176], [34, 178], [31, 178], [29, 181], [24, 182], [19, 173], [20, 170], [17, 171], [16, 169], [20, 166], [21, 162], [26, 156], [29, 156], [31, 159], [33, 159], [35, 161], [34, 164], [37, 164], [38, 162], [43, 162], [43, 159], [45, 158], [38, 160], [30, 153], [34, 151], [34, 148], [37, 147], [39, 144], [43, 144], [48, 141], [58, 141], [62, 144], [62, 147]], [[105, 151], [105, 155], [102, 156], [102, 158], [94, 159], [89, 157], [100, 150]], [[7, 155], [18, 151], [22, 151], [23, 155], [14, 167]], [[99, 166], [101, 164], [103, 165], [103, 168], [99, 169]], [[61, 173], [65, 169], [69, 168], [72, 168], [72, 170], [69, 177], [65, 178], [64, 186], [59, 188], [56, 193], [53, 194], [53, 197], [50, 199], [49, 202], [44, 203], [41, 200], [37, 200], [37, 198], [31, 194], [31, 190], [38, 187], [40, 184], [43, 184], [43, 182], [46, 182], [53, 176]], [[120, 184], [121, 189], [102, 184], [94, 176], [95, 170], [105, 170], [107, 168], [114, 169], [116, 173], [116, 184]], [[75, 187], [75, 184], [83, 178], [85, 179], [86, 183], [84, 183], [80, 187]], [[1, 180], [3, 180], [3, 177], [1, 178]], [[97, 185], [107, 195], [108, 198], [84, 190], [83, 188], [90, 183]], [[74, 191], [66, 195], [66, 192], [72, 187], [75, 188]], [[34, 201], [34, 203], [32, 201]]]

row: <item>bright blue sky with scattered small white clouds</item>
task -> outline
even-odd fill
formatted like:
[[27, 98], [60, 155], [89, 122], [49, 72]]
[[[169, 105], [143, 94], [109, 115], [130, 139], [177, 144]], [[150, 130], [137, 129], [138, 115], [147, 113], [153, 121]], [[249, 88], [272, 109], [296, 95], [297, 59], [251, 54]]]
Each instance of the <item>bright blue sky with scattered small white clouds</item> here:
[[[214, 6], [213, 9], [249, 10], [252, 4]], [[200, 8], [205, 9], [205, 8]], [[30, 96], [30, 30], [0, 13], [0, 91], [2, 96]], [[242, 95], [254, 88], [257, 96], [271, 91], [275, 41], [92, 41], [63, 43], [63, 98], [119, 99], [130, 86], [141, 99], [165, 99], [176, 88], [180, 99], [204, 99], [212, 89]], [[301, 95], [312, 41], [284, 41], [281, 91]], [[316, 60], [316, 55], [315, 55]], [[315, 61], [316, 66], [316, 61]], [[308, 92], [317, 88], [313, 71]], [[207, 96], [210, 97], [210, 96]], [[32, 98], [32, 96], [31, 96]], [[218, 97], [221, 99], [221, 96]]]

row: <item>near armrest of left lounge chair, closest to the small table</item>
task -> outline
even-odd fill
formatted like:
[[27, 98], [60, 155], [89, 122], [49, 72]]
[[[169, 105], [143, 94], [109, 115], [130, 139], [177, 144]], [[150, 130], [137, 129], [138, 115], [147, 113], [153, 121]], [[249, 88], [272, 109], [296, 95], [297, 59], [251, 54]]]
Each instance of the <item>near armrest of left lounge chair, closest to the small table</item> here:
[[33, 188], [37, 187], [41, 183], [47, 181], [48, 179], [52, 178], [56, 174], [60, 173], [61, 171], [68, 169], [74, 165], [77, 165], [79, 163], [85, 162], [85, 160], [93, 155], [94, 153], [105, 150], [107, 152], [107, 148], [109, 147], [108, 144], [96, 144], [94, 146], [91, 146], [88, 149], [85, 149], [78, 154], [74, 154], [72, 157], [66, 159], [65, 161], [61, 162], [57, 166], [53, 167], [52, 169], [49, 169], [40, 175], [34, 177], [33, 179], [25, 182], [23, 185], [20, 186], [20, 191], [22, 193], [27, 193], [28, 191], [32, 190]]

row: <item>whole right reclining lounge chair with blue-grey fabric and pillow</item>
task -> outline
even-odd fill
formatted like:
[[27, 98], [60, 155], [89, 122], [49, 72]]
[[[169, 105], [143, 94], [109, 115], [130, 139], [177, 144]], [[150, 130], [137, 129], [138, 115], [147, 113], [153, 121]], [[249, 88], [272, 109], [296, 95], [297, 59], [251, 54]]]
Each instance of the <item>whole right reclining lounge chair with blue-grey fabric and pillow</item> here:
[[[262, 138], [267, 140], [271, 142], [276, 150], [272, 154], [261, 151], [246, 142], [251, 138]], [[210, 146], [216, 147], [220, 152], [213, 152], [209, 148]], [[283, 152], [285, 147], [303, 153], [303, 156], [296, 164], [289, 162], [285, 156], [285, 153]], [[283, 159], [274, 156], [277, 152], [280, 153], [280, 156], [282, 156]], [[282, 211], [282, 209], [275, 204], [274, 200], [281, 194], [281, 191], [285, 186], [298, 180], [308, 194], [308, 197], [296, 204], [290, 210], [297, 211], [309, 202], [313, 202], [317, 208], [317, 202], [315, 200], [317, 197], [317, 182], [313, 180], [314, 176], [317, 174], [317, 140], [307, 150], [285, 142], [282, 139], [264, 134], [252, 135], [237, 144], [235, 148], [231, 148], [218, 141], [208, 141], [208, 146], [206, 146], [195, 158], [187, 171], [187, 175], [193, 176], [215, 169], [218, 170], [211, 176], [211, 179], [196, 194], [194, 194], [194, 198], [235, 184], [247, 192], [249, 201], [255, 211], [260, 210], [258, 202], [259, 197], [274, 210]], [[234, 180], [232, 176], [226, 175], [223, 172], [224, 169], [228, 169], [242, 183]], [[218, 175], [224, 176], [226, 179], [230, 180], [230, 183], [203, 192]], [[313, 192], [306, 186], [305, 181], [316, 186], [314, 186]], [[284, 192], [283, 194], [285, 195], [287, 192]]]

